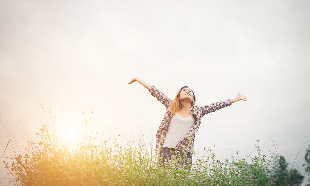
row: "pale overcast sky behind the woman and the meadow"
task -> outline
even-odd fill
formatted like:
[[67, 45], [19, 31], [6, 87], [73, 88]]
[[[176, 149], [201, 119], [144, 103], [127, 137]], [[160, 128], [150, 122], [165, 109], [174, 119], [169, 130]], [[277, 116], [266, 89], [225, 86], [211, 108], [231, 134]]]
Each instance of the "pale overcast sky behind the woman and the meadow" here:
[[[309, 1], [0, 1], [0, 118], [37, 141], [37, 98], [57, 125], [155, 141], [165, 107], [138, 76], [171, 99], [189, 86], [197, 105], [238, 101], [202, 118], [195, 150], [290, 162], [310, 141]], [[86, 114], [83, 115], [82, 112]], [[0, 127], [0, 154], [8, 142]], [[304, 175], [301, 146], [294, 168]], [[153, 144], [155, 146], [155, 143]], [[1, 158], [1, 162], [6, 160]], [[3, 173], [4, 170], [1, 170]], [[308, 176], [304, 179], [306, 179]]]

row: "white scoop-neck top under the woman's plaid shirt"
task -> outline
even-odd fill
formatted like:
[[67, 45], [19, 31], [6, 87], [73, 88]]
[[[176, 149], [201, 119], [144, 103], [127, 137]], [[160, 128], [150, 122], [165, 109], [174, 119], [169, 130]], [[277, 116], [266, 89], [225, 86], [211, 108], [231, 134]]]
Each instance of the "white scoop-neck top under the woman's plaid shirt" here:
[[182, 117], [178, 113], [175, 113], [169, 121], [166, 139], [164, 140], [163, 147], [175, 148], [175, 146], [179, 144], [179, 142], [192, 128], [194, 123], [195, 119], [193, 117], [193, 114], [188, 117]]

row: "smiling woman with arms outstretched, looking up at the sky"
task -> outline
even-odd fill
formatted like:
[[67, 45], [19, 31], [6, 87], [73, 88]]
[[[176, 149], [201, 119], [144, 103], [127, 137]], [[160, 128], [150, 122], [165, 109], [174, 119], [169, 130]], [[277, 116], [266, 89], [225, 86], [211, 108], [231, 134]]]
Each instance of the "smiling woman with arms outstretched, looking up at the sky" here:
[[[246, 100], [246, 95], [238, 93], [237, 97], [212, 103], [210, 105], [197, 106], [194, 92], [188, 86], [182, 87], [171, 100], [154, 85], [142, 81], [138, 77], [128, 84], [139, 82], [150, 91], [166, 107], [165, 116], [156, 134], [156, 154], [162, 157], [161, 161], [169, 161], [172, 155], [183, 155], [186, 165], [192, 162], [192, 151], [195, 133], [199, 129], [201, 117], [220, 108], [227, 107], [239, 100]], [[185, 156], [184, 156], [185, 155]]]

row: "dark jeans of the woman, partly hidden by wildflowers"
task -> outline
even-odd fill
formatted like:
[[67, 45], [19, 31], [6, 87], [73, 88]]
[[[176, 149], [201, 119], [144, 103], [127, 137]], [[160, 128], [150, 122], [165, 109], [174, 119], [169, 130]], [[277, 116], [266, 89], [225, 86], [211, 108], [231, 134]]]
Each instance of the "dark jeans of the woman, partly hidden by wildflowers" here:
[[177, 159], [177, 163], [181, 166], [185, 165], [185, 169], [189, 169], [192, 165], [192, 154], [186, 151], [180, 151], [175, 148], [162, 147], [161, 157], [159, 163], [164, 166], [165, 162], [168, 163], [173, 158]]

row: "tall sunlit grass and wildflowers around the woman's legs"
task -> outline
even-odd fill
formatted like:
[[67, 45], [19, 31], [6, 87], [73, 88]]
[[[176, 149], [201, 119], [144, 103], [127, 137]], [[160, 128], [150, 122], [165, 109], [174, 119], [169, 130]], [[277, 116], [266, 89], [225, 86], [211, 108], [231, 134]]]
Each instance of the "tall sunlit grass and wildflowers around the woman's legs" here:
[[[86, 122], [87, 124], [87, 122]], [[87, 125], [84, 126], [87, 130]], [[186, 166], [173, 159], [164, 166], [157, 165], [157, 157], [145, 144], [143, 136], [126, 145], [117, 139], [94, 143], [95, 135], [84, 132], [75, 148], [57, 137], [47, 124], [36, 133], [38, 143], [28, 140], [21, 153], [4, 161], [15, 185], [276, 185], [272, 178], [271, 161], [261, 153], [259, 140], [255, 156], [221, 162], [211, 148], [206, 156]], [[9, 132], [9, 131], [8, 131]], [[10, 139], [13, 143], [14, 139]], [[14, 151], [16, 152], [16, 151]], [[250, 162], [250, 163], [248, 163]], [[291, 184], [292, 183], [287, 183]]]

